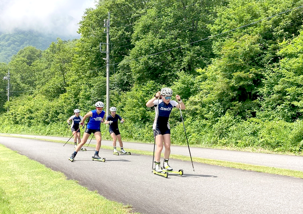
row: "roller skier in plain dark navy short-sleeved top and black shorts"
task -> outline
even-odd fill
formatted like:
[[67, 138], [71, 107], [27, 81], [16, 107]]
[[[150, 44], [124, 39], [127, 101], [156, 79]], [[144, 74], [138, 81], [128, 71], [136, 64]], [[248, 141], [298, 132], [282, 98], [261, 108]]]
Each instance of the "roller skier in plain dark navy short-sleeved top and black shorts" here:
[[113, 139], [113, 147], [114, 147], [113, 153], [115, 155], [119, 155], [119, 153], [117, 151], [117, 147], [116, 147], [116, 143], [117, 143], [117, 139], [118, 139], [119, 146], [121, 148], [120, 153], [130, 155], [131, 154], [130, 152], [126, 152], [123, 149], [121, 134], [120, 134], [119, 128], [118, 128], [118, 120], [120, 120], [120, 123], [124, 123], [125, 120], [122, 117], [120, 117], [118, 114], [116, 114], [116, 111], [117, 111], [116, 107], [111, 107], [109, 110], [110, 110], [111, 114], [106, 117], [104, 123], [109, 124], [108, 131]]

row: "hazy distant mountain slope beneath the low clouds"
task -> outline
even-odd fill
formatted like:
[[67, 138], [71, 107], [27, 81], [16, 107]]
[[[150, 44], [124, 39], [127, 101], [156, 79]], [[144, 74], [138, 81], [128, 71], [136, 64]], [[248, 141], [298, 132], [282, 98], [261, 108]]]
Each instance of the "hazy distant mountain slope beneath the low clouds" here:
[[75, 39], [75, 37], [44, 34], [33, 30], [16, 30], [11, 33], [0, 32], [0, 62], [8, 63], [13, 55], [26, 46], [34, 46], [37, 49], [45, 50], [52, 42], [57, 41], [57, 38], [62, 40]]

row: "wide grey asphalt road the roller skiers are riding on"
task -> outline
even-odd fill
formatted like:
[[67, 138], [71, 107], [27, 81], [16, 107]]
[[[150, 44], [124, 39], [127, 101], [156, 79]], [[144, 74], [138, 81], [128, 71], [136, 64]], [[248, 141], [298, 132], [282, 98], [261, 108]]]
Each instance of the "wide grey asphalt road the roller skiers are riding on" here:
[[[169, 160], [184, 175], [163, 178], [151, 173], [151, 156], [113, 155], [100, 150], [106, 162], [92, 161], [93, 148], [68, 157], [74, 147], [42, 140], [0, 137], [0, 143], [69, 179], [97, 190], [108, 199], [129, 204], [141, 213], [302, 213], [302, 179]], [[1, 155], [1, 154], [0, 154]], [[161, 160], [162, 161], [162, 160]], [[75, 195], [77, 198], [77, 195]]]

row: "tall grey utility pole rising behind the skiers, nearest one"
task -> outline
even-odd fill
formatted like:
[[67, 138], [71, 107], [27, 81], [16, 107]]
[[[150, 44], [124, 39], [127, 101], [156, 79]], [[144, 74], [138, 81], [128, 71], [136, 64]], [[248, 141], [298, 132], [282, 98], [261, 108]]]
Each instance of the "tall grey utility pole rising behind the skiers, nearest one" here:
[[106, 51], [101, 51], [102, 53], [106, 53], [106, 116], [109, 115], [109, 18], [110, 13], [108, 13], [108, 20], [104, 19], [104, 27], [106, 28], [104, 32], [106, 33], [106, 43], [100, 42], [100, 51], [101, 44], [106, 44]]

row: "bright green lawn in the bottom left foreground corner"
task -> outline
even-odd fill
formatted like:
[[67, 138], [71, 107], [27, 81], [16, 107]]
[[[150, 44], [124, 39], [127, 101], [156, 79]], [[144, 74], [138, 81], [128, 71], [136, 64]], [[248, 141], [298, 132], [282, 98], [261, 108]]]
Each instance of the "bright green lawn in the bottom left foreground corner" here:
[[113, 202], [67, 180], [63, 173], [0, 144], [0, 214], [40, 213], [129, 213]]

